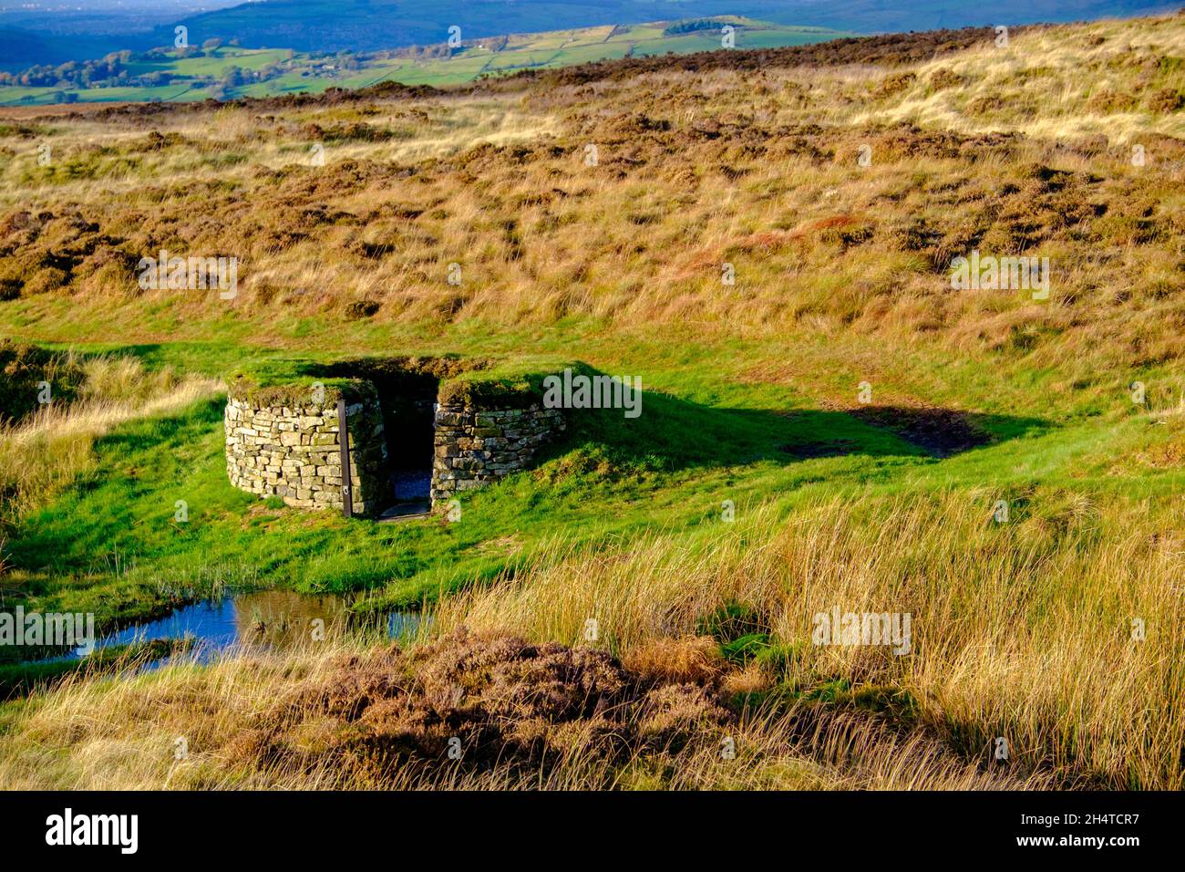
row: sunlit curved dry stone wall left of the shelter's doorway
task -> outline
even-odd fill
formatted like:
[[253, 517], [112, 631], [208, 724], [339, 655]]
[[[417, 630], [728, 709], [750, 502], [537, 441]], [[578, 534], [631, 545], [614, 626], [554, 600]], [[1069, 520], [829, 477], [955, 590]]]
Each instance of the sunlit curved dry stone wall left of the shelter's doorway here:
[[[386, 479], [386, 441], [377, 399], [350, 402], [346, 420], [353, 510], [365, 514], [380, 508]], [[224, 424], [226, 473], [236, 488], [278, 496], [302, 509], [341, 509], [337, 400], [301, 406], [231, 396]]]

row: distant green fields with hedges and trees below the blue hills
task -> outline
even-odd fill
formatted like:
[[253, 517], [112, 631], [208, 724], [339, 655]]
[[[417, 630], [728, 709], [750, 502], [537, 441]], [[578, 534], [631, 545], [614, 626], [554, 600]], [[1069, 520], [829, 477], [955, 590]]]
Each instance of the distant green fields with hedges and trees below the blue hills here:
[[[795, 27], [732, 15], [712, 21], [736, 27], [737, 49], [768, 49], [805, 45], [852, 36], [821, 27]], [[684, 55], [723, 49], [718, 26], [665, 36], [672, 21], [632, 26], [602, 26], [582, 30], [525, 33], [500, 40], [473, 40], [450, 57], [412, 58], [357, 56], [358, 69], [341, 69], [334, 57], [313, 57], [287, 49], [219, 47], [205, 57], [161, 56], [159, 62], [134, 61], [127, 64], [130, 76], [168, 74], [174, 81], [162, 87], [27, 88], [0, 85], [0, 106], [46, 106], [60, 102], [193, 101], [209, 97], [263, 97], [280, 94], [318, 94], [327, 88], [364, 88], [378, 82], [447, 85], [472, 82], [483, 75], [511, 75], [526, 69], [552, 69], [594, 61], [673, 52]], [[228, 84], [233, 68], [258, 72], [278, 66], [280, 75], [267, 81]]]

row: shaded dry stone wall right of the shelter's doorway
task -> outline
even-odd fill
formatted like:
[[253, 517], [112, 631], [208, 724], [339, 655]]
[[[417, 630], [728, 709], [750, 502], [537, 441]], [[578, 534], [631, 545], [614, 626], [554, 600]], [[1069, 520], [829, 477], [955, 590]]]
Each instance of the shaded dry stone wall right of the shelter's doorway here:
[[508, 409], [438, 406], [433, 504], [531, 466], [539, 448], [565, 427], [563, 412], [538, 403]]

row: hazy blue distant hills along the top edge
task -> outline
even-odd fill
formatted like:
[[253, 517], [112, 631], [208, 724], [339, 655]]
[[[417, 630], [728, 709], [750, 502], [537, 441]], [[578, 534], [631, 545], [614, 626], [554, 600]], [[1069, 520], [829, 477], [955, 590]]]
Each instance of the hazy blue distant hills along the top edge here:
[[[448, 28], [465, 39], [530, 33], [604, 24], [707, 15], [747, 15], [779, 24], [828, 27], [861, 33], [933, 30], [993, 24], [1072, 21], [1106, 15], [1147, 14], [1176, 8], [1162, 0], [261, 0], [187, 15], [178, 21], [136, 27], [113, 34], [79, 32], [70, 40], [49, 38], [52, 15], [43, 28], [21, 19], [7, 27], [0, 17], [0, 68], [97, 58], [108, 51], [172, 45], [174, 26], [188, 28], [191, 45], [210, 38], [236, 39], [250, 49], [379, 51], [443, 43]], [[117, 13], [111, 13], [113, 15]], [[130, 24], [130, 19], [129, 19]], [[97, 27], [97, 25], [96, 25]]]

